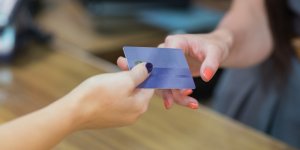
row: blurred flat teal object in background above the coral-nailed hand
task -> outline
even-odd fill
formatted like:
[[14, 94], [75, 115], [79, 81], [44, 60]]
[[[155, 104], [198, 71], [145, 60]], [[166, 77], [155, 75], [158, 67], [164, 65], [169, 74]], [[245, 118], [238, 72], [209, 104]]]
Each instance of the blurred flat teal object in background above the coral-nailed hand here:
[[193, 6], [186, 10], [149, 9], [140, 11], [138, 19], [142, 23], [169, 32], [205, 32], [214, 29], [223, 17], [223, 12]]

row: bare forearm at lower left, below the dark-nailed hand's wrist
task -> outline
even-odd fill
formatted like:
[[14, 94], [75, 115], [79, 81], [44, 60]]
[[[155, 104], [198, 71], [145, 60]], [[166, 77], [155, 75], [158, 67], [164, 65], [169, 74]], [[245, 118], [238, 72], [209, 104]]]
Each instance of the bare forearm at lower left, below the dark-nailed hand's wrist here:
[[51, 149], [76, 127], [72, 106], [57, 101], [0, 126], [1, 149]]

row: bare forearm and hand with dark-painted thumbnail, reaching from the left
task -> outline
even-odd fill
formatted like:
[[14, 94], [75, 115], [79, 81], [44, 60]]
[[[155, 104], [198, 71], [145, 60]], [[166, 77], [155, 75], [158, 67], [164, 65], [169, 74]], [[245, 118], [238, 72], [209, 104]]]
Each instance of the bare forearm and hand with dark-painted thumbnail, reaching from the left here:
[[1, 125], [1, 149], [51, 149], [75, 131], [134, 123], [154, 93], [136, 89], [148, 70], [142, 63], [131, 71], [93, 76], [49, 106]]

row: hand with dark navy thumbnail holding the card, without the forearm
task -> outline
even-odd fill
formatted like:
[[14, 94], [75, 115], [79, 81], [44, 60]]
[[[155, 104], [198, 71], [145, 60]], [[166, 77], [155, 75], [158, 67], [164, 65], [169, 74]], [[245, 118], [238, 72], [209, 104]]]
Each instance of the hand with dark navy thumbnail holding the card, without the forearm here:
[[154, 90], [137, 89], [152, 70], [141, 63], [131, 71], [93, 76], [63, 100], [74, 105], [76, 128], [119, 127], [134, 123], [147, 108]]

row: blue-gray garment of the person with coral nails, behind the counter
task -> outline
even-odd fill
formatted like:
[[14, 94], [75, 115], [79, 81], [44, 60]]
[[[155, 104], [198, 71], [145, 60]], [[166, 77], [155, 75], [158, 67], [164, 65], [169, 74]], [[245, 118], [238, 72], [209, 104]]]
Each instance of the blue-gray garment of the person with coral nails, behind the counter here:
[[[289, 5], [298, 14], [295, 29], [300, 35], [300, 0], [289, 0]], [[262, 64], [226, 69], [215, 89], [213, 108], [300, 148], [300, 63], [297, 58], [292, 62], [292, 72], [281, 90], [266, 88]]]

